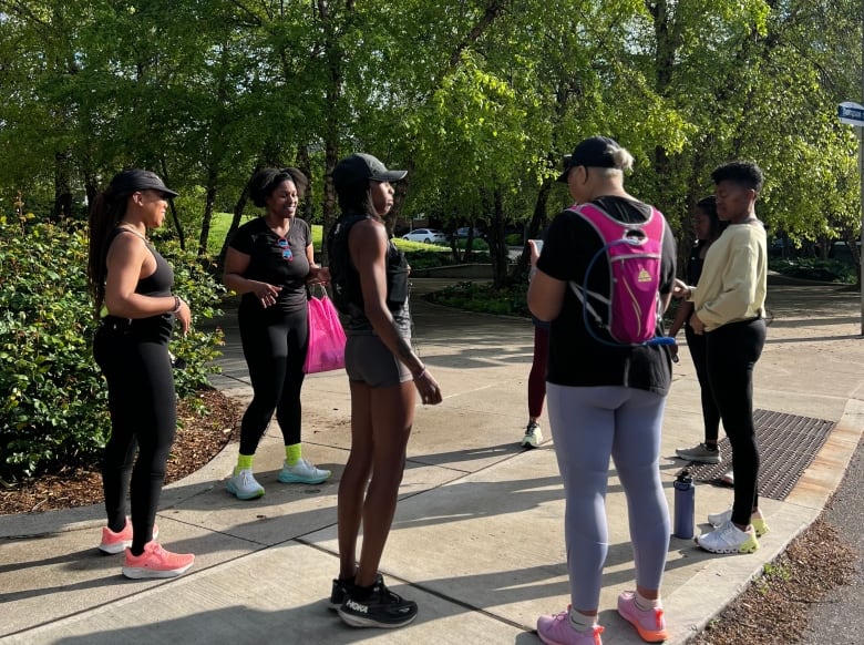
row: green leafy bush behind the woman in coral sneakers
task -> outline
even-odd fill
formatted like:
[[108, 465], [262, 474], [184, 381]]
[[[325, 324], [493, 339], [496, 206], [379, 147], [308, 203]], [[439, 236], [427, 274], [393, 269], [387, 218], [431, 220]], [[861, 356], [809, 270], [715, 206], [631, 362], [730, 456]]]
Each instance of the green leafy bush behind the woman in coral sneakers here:
[[[93, 360], [88, 239], [69, 227], [0, 216], [0, 478], [32, 477], [96, 459], [110, 432], [107, 388]], [[176, 245], [160, 244], [176, 293], [194, 317], [212, 317], [222, 288]], [[192, 330], [172, 344], [186, 369], [182, 397], [215, 371], [220, 335]]]

